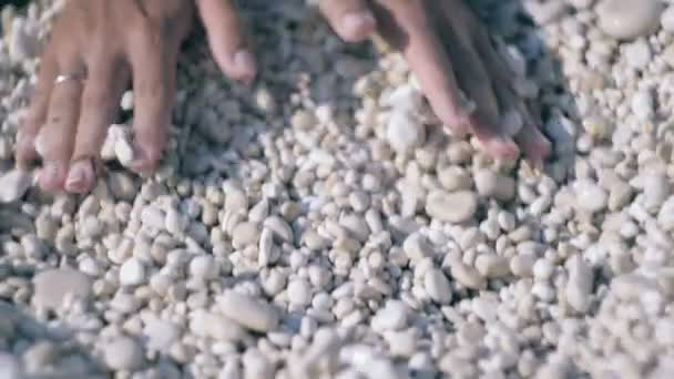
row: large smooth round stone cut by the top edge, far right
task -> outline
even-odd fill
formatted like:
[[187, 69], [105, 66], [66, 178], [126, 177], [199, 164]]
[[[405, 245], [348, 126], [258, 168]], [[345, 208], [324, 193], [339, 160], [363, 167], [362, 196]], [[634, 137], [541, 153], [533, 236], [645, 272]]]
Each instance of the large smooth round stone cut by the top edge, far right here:
[[599, 27], [619, 40], [653, 33], [660, 25], [660, 13], [656, 0], [604, 0], [596, 7]]

